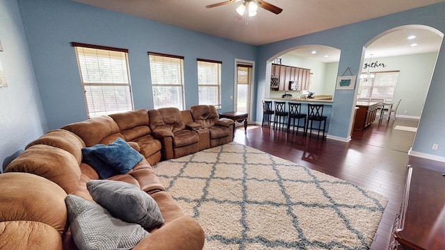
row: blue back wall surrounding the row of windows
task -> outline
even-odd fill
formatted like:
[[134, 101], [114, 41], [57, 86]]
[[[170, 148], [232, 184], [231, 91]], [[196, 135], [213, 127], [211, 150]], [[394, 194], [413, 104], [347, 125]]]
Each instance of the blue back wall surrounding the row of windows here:
[[186, 108], [198, 104], [196, 58], [220, 60], [221, 111], [233, 110], [234, 60], [256, 60], [257, 47], [69, 0], [19, 0], [48, 127], [87, 119], [70, 42], [129, 49], [134, 107], [153, 108], [147, 51], [184, 56]]

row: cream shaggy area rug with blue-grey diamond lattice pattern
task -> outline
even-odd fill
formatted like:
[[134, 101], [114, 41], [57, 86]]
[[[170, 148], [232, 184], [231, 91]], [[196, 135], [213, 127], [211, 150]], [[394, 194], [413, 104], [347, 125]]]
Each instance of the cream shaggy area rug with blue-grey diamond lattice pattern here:
[[236, 142], [154, 166], [205, 249], [369, 249], [387, 198]]

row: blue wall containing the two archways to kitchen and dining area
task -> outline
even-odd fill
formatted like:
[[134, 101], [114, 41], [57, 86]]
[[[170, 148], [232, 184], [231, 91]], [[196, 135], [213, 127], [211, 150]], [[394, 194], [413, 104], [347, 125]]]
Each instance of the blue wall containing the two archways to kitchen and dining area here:
[[[257, 101], [256, 106], [261, 107], [261, 98], [264, 97], [266, 86], [267, 61], [280, 56], [284, 51], [306, 44], [321, 44], [341, 49], [339, 70], [341, 76], [348, 67], [353, 74], [361, 72], [363, 63], [364, 46], [381, 33], [398, 26], [423, 25], [435, 28], [445, 33], [445, 3], [437, 3], [432, 6], [416, 8], [394, 15], [387, 15], [365, 22], [358, 22], [327, 31], [312, 33], [298, 38], [291, 38], [259, 47], [257, 57]], [[442, 42], [443, 45], [443, 42]], [[421, 65], [419, 65], [421, 67]], [[445, 46], [441, 47], [437, 58], [437, 65], [432, 76], [430, 90], [423, 109], [419, 130], [414, 140], [412, 151], [426, 158], [445, 160]], [[357, 89], [356, 89], [357, 90]], [[328, 138], [346, 140], [350, 134], [350, 121], [355, 106], [356, 91], [336, 90], [334, 93], [334, 105], [332, 106], [330, 129]], [[410, 101], [410, 100], [407, 100]], [[411, 100], [415, 101], [415, 100]], [[261, 113], [257, 112], [257, 120]], [[431, 149], [432, 143], [444, 145], [439, 150]]]

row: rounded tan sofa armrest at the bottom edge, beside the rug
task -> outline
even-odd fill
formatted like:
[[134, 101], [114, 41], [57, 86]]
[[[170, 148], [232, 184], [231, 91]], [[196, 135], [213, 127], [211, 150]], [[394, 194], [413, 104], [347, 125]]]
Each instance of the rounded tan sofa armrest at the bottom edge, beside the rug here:
[[204, 230], [192, 217], [183, 216], [165, 224], [141, 240], [134, 250], [198, 250], [204, 247]]

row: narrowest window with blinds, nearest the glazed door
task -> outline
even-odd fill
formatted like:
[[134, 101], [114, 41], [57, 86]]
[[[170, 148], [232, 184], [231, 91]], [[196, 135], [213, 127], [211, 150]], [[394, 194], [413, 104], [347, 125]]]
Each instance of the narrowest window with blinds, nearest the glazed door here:
[[221, 108], [221, 64], [222, 62], [197, 59], [197, 85], [200, 105]]

